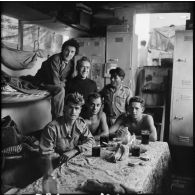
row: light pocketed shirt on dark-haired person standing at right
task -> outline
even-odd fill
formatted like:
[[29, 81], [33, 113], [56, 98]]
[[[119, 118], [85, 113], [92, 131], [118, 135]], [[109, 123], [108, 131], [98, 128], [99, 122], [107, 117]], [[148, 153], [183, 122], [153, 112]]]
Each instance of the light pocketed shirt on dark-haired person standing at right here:
[[108, 117], [117, 118], [121, 113], [126, 112], [126, 106], [132, 97], [129, 87], [121, 85], [118, 90], [108, 84], [100, 92], [104, 98], [104, 112]]

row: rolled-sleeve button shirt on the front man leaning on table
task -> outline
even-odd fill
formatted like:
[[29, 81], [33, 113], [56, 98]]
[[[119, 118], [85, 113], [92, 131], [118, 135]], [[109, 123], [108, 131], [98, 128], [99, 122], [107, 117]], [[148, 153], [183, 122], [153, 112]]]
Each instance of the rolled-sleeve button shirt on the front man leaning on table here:
[[94, 137], [84, 119], [79, 117], [73, 124], [71, 133], [67, 133], [64, 117], [59, 117], [44, 128], [40, 140], [41, 154], [59, 153], [78, 149], [80, 152], [92, 148]]

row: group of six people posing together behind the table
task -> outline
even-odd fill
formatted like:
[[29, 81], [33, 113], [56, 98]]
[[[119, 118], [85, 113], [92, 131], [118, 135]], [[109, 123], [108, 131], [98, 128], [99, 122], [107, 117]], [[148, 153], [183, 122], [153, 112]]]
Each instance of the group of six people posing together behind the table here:
[[120, 127], [136, 135], [147, 129], [150, 141], [156, 141], [153, 118], [143, 114], [144, 100], [132, 97], [130, 88], [123, 85], [125, 72], [119, 67], [110, 70], [110, 84], [97, 92], [96, 83], [88, 78], [91, 64], [87, 57], [77, 61], [75, 75], [73, 59], [78, 53], [78, 42], [66, 41], [33, 78], [33, 84], [52, 95], [52, 121], [43, 129], [41, 154], [58, 153], [60, 163], [67, 162], [89, 150], [100, 136], [115, 135]]

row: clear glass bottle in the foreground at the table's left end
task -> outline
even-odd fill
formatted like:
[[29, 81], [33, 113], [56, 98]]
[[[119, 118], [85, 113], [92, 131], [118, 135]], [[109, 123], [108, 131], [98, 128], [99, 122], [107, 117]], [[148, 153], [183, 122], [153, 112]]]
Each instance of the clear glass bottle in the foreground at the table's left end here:
[[57, 180], [52, 174], [53, 166], [51, 156], [47, 156], [44, 158], [45, 162], [45, 173], [42, 181], [42, 191], [44, 194], [57, 194]]

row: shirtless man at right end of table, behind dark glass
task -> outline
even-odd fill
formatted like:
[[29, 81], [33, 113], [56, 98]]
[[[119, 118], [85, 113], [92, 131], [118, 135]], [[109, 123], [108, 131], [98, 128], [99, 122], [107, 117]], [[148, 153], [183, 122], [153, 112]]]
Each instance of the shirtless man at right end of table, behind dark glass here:
[[110, 128], [110, 134], [113, 135], [121, 126], [128, 127], [131, 134], [141, 135], [141, 130], [150, 132], [149, 140], [156, 141], [157, 133], [154, 126], [154, 120], [151, 115], [143, 114], [145, 102], [141, 97], [135, 96], [129, 100], [128, 113], [120, 115], [115, 124]]

